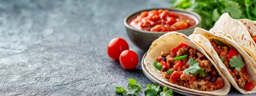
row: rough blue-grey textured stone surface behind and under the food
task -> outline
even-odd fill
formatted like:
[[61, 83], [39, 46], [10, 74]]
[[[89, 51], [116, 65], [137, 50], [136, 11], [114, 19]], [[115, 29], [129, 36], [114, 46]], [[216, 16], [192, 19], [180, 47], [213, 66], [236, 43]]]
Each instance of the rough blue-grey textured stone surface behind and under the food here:
[[128, 78], [142, 85], [142, 95], [152, 82], [141, 61], [124, 70], [106, 46], [124, 38], [141, 60], [145, 51], [130, 42], [123, 18], [169, 6], [169, 0], [1, 0], [0, 96], [113, 96]]

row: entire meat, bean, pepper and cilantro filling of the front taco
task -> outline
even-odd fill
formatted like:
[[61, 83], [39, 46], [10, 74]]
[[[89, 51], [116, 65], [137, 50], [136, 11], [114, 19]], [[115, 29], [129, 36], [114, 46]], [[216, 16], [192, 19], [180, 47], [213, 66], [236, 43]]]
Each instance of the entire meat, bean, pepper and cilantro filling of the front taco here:
[[202, 91], [223, 87], [223, 80], [212, 62], [204, 54], [183, 43], [170, 52], [162, 52], [153, 65], [161, 70], [163, 78], [173, 84]]

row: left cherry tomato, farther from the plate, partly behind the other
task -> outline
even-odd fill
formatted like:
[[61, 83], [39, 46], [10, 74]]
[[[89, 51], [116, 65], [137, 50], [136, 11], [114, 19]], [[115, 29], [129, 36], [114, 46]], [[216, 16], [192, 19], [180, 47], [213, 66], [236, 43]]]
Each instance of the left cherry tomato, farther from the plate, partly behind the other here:
[[129, 46], [122, 38], [114, 38], [108, 43], [108, 56], [114, 60], [119, 60], [119, 56], [124, 50], [129, 50]]

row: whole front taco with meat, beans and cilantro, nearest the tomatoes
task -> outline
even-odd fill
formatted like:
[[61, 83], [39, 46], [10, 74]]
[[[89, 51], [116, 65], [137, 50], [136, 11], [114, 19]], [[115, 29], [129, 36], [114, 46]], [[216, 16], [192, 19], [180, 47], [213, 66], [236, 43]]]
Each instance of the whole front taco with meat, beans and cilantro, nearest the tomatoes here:
[[178, 32], [166, 33], [152, 42], [144, 64], [156, 79], [182, 90], [221, 96], [230, 91], [230, 83], [212, 58]]

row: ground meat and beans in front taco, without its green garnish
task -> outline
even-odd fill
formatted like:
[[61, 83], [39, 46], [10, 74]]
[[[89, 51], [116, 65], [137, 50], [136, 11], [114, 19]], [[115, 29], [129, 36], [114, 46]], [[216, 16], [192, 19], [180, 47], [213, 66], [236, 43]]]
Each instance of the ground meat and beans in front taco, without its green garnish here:
[[[201, 76], [200, 74], [196, 75], [187, 75], [183, 74], [183, 71], [186, 68], [189, 68], [188, 58], [182, 59], [182, 66], [176, 67], [177, 61], [174, 60], [175, 57], [187, 55], [188, 58], [194, 58], [198, 60], [200, 63], [200, 67], [205, 69], [206, 76]], [[156, 58], [158, 62], [165, 61], [172, 71], [171, 75], [176, 75], [175, 79], [170, 79], [171, 75], [167, 72], [162, 72], [162, 77], [169, 80], [169, 82], [174, 84], [183, 85], [187, 88], [202, 90], [202, 91], [212, 91], [221, 89], [223, 87], [223, 80], [218, 75], [216, 68], [213, 66], [212, 62], [201, 54], [196, 49], [187, 46], [182, 47], [178, 50], [178, 52], [167, 53], [162, 52], [158, 58]], [[162, 71], [162, 70], [161, 70]]]

